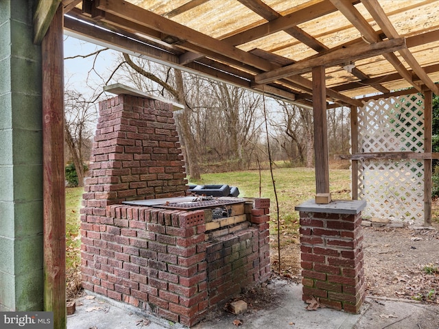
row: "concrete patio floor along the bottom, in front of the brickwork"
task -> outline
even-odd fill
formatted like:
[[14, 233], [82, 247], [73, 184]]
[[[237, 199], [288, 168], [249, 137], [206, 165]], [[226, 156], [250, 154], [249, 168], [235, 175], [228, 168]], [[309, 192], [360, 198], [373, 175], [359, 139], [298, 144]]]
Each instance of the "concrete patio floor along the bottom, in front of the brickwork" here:
[[[233, 315], [224, 310], [209, 314], [208, 319], [191, 328], [237, 328], [235, 319], [241, 320], [241, 329], [437, 329], [439, 306], [401, 300], [366, 298], [357, 315], [329, 308], [306, 310], [302, 302], [302, 286], [286, 280], [270, 280], [265, 289], [270, 302], [263, 307], [249, 304], [248, 311]], [[91, 295], [91, 294], [89, 294]], [[92, 298], [92, 299], [88, 299]], [[244, 299], [245, 300], [245, 299]], [[67, 319], [67, 329], [163, 329], [187, 328], [154, 315], [141, 313], [138, 308], [118, 303], [98, 295], [80, 297], [76, 310]]]

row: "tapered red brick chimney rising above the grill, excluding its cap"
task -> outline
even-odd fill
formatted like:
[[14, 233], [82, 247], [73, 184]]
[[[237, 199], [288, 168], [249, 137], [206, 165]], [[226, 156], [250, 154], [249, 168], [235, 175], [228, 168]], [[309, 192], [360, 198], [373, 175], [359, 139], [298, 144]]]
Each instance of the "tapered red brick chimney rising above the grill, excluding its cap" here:
[[185, 163], [171, 109], [169, 103], [130, 95], [99, 103], [83, 195], [88, 211], [130, 199], [185, 195]]

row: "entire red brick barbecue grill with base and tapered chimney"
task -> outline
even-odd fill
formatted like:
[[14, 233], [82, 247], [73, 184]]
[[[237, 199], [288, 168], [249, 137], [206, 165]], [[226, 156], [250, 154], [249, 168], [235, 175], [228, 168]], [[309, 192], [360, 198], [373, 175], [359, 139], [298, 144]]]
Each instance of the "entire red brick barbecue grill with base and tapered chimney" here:
[[119, 95], [99, 114], [81, 210], [84, 289], [193, 326], [269, 278], [269, 199], [248, 199], [244, 222], [209, 232], [207, 210], [121, 204], [185, 195], [171, 105]]

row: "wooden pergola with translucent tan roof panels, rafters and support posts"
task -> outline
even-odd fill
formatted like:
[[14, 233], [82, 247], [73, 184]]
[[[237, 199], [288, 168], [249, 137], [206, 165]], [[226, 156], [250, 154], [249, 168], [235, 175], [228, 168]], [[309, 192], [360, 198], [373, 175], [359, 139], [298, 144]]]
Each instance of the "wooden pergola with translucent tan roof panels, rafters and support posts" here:
[[[439, 95], [436, 0], [40, 0], [34, 42], [43, 47], [45, 304], [60, 312], [55, 318], [62, 317], [65, 306], [65, 274], [54, 269], [65, 252], [59, 243], [64, 181], [51, 180], [64, 172], [64, 33], [311, 106], [318, 194], [329, 193], [327, 109], [356, 109], [369, 99], [423, 93], [425, 153], [368, 156], [418, 157], [425, 164], [425, 181], [431, 182], [431, 159], [436, 158], [431, 98]], [[355, 117], [351, 121], [355, 127]], [[354, 162], [361, 156], [354, 148]], [[425, 185], [430, 213], [431, 186]]]

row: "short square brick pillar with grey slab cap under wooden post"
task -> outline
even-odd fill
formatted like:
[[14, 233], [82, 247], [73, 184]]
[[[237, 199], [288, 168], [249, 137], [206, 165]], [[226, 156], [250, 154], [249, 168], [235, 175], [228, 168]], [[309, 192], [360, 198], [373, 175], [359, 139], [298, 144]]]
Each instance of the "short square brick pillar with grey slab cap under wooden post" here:
[[358, 313], [364, 302], [361, 210], [366, 202], [309, 201], [300, 211], [302, 300], [311, 296], [329, 308]]

